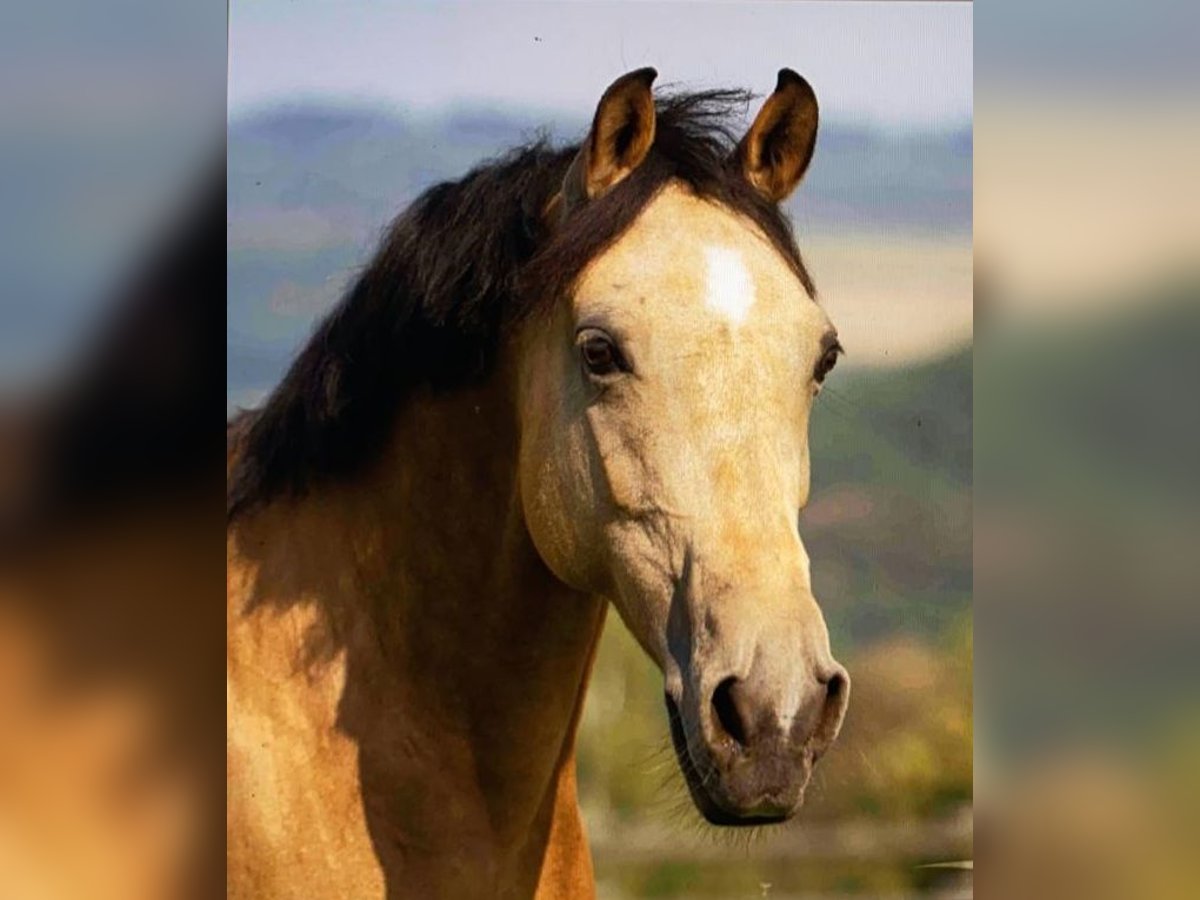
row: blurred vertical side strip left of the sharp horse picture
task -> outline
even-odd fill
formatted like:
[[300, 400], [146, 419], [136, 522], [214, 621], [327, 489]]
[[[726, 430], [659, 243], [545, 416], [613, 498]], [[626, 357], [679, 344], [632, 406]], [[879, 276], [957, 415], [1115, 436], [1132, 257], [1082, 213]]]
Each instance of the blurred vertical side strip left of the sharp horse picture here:
[[[0, 384], [0, 896], [223, 893], [226, 26], [208, 0], [0, 13], [5, 140], [35, 130], [42, 175], [96, 142], [109, 173], [133, 173], [125, 211], [149, 211], [89, 245], [115, 257], [90, 271], [124, 275], [59, 322], [78, 349]], [[102, 205], [38, 210], [42, 175], [5, 172], [0, 202], [22, 188], [23, 212], [110, 236]], [[35, 256], [70, 266], [79, 246]], [[0, 302], [19, 324], [40, 312], [22, 292], [37, 269], [14, 271]]]

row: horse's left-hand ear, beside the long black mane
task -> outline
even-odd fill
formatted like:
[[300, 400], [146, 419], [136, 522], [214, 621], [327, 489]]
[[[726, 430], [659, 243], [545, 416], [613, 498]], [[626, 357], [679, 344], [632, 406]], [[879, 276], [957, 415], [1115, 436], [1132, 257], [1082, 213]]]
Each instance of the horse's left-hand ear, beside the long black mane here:
[[636, 169], [654, 143], [653, 68], [628, 72], [600, 97], [592, 131], [563, 182], [568, 206], [602, 197]]

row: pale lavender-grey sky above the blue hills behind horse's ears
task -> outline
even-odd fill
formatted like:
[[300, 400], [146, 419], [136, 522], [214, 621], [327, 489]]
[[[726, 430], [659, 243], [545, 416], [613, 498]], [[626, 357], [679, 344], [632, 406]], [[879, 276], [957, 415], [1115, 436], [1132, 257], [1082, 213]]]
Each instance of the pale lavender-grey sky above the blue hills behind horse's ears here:
[[644, 65], [659, 84], [805, 76], [826, 116], [955, 127], [972, 114], [964, 2], [378, 4], [233, 0], [229, 114], [280, 102], [590, 109]]

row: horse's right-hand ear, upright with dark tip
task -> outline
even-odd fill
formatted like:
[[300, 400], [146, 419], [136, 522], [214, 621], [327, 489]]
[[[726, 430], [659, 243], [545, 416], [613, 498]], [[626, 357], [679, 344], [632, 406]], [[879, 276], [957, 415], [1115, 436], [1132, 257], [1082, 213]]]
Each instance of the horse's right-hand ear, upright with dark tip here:
[[817, 95], [790, 68], [779, 70], [775, 92], [742, 138], [736, 160], [764, 197], [779, 203], [800, 184], [817, 143]]

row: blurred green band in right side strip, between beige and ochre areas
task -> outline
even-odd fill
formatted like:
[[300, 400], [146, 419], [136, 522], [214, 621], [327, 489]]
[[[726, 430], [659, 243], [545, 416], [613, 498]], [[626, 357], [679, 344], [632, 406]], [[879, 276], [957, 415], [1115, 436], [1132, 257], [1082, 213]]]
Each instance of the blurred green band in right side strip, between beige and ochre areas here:
[[[1150, 752], [1194, 704], [1200, 281], [977, 354], [980, 703], [994, 750]], [[1014, 661], [1019, 665], [1014, 665]]]

